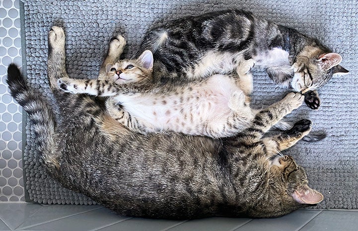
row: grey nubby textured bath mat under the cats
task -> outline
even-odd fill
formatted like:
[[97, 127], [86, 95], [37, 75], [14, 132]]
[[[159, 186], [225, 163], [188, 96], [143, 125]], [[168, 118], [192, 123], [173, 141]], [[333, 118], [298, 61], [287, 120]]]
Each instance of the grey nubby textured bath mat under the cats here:
[[[127, 56], [138, 48], [150, 25], [185, 15], [227, 8], [243, 8], [279, 24], [316, 37], [343, 56], [350, 70], [319, 90], [318, 111], [300, 107], [292, 121], [310, 118], [313, 130], [325, 130], [321, 142], [303, 141], [284, 154], [293, 155], [308, 172], [310, 186], [325, 195], [318, 208], [358, 208], [358, 32], [357, 0], [28, 0], [24, 2], [24, 28], [28, 83], [51, 97], [46, 79], [47, 33], [63, 25], [67, 34], [67, 67], [71, 77], [96, 77], [109, 39], [117, 32], [128, 41]], [[260, 70], [255, 72], [253, 105], [261, 107], [281, 99], [286, 90], [275, 86]], [[32, 125], [27, 124], [24, 153], [29, 200], [40, 203], [91, 204], [85, 196], [61, 187], [43, 171], [32, 146]]]

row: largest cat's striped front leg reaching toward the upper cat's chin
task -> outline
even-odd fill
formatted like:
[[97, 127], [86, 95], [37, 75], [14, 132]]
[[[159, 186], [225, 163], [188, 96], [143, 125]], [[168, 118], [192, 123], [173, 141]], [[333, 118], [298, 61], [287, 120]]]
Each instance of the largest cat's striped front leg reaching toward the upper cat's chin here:
[[241, 140], [245, 143], [258, 142], [262, 136], [284, 116], [298, 108], [303, 102], [303, 95], [290, 92], [285, 98], [272, 104], [256, 114], [251, 126], [242, 132]]

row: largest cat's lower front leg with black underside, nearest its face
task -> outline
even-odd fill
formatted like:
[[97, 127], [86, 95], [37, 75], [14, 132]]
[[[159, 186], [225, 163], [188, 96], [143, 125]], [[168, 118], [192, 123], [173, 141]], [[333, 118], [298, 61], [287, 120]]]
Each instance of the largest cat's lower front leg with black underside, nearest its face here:
[[311, 131], [311, 128], [312, 121], [303, 119], [296, 122], [291, 129], [283, 131], [279, 135], [264, 138], [263, 142], [266, 149], [272, 149], [272, 152], [268, 153], [277, 153], [275, 150], [283, 151], [296, 144]]

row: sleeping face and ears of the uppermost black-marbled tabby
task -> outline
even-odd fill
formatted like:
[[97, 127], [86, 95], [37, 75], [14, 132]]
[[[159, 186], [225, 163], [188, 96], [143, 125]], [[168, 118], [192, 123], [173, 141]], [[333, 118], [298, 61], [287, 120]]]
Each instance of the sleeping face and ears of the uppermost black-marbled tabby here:
[[344, 74], [348, 71], [339, 64], [342, 57], [337, 53], [324, 53], [316, 47], [306, 47], [297, 55], [293, 64], [294, 76], [291, 87], [305, 93], [324, 85], [334, 74]]

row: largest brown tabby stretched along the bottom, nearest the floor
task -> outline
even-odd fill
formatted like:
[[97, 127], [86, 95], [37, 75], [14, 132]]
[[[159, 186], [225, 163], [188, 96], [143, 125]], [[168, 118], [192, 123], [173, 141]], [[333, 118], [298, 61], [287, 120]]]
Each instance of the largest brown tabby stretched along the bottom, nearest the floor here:
[[262, 137], [301, 105], [300, 93], [287, 94], [229, 139], [178, 133], [143, 136], [113, 123], [93, 97], [57, 87], [58, 78], [68, 77], [65, 34], [59, 27], [49, 32], [47, 73], [56, 112], [61, 112], [56, 116], [15, 65], [7, 70], [11, 95], [36, 125], [43, 166], [65, 187], [121, 215], [278, 217], [323, 199], [308, 187], [304, 169], [280, 153], [306, 135], [312, 123], [301, 120], [277, 136]]

